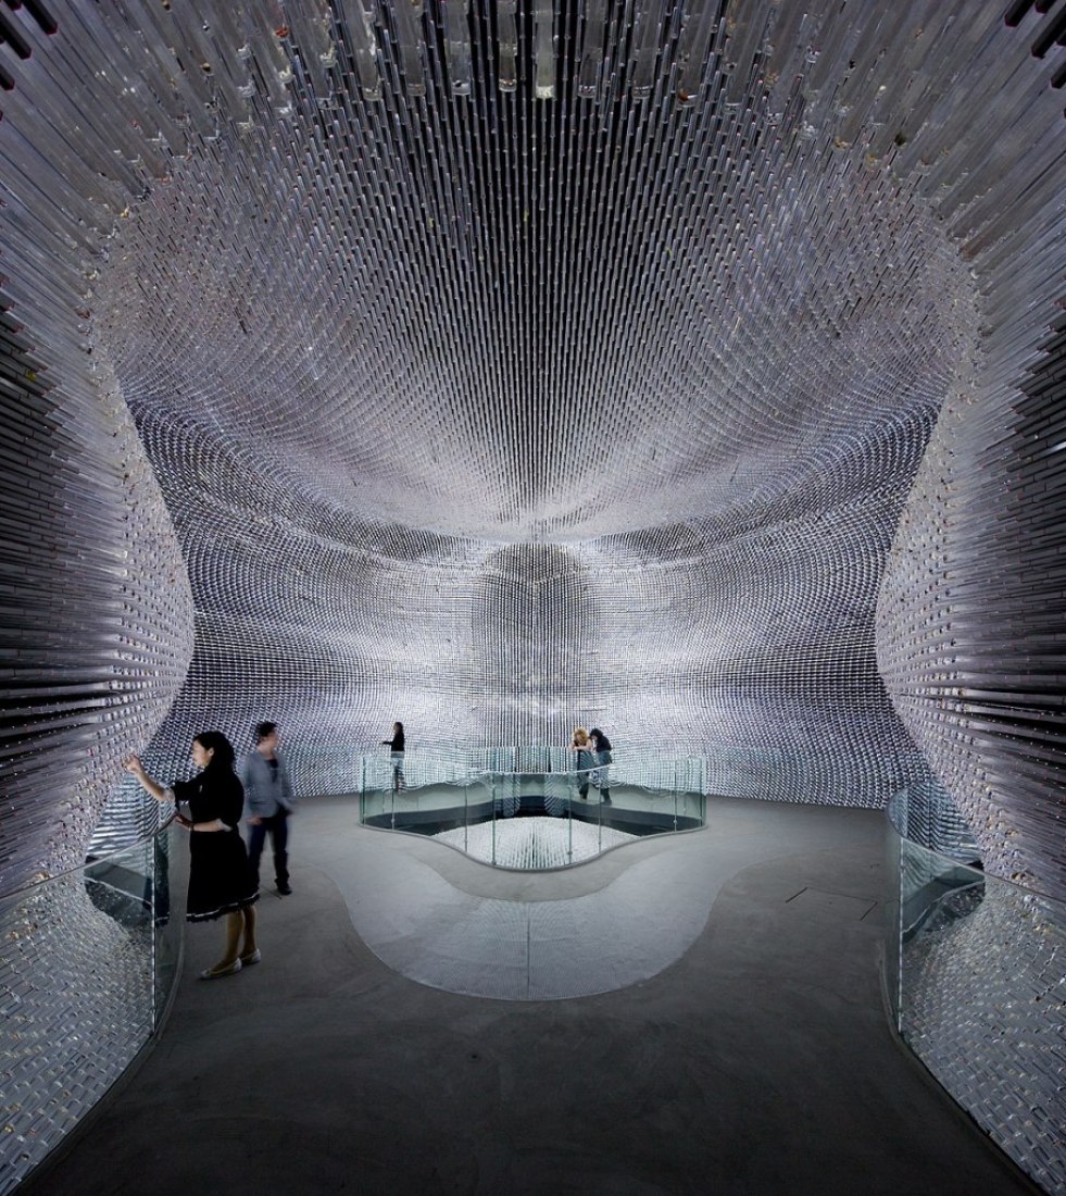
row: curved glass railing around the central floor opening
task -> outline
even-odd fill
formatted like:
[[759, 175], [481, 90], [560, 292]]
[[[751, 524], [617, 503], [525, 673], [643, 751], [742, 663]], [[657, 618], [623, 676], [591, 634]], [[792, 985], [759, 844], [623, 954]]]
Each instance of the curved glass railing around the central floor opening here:
[[360, 759], [360, 818], [425, 835], [485, 864], [568, 867], [706, 820], [700, 757], [641, 753], [572, 768], [565, 749], [387, 751]]

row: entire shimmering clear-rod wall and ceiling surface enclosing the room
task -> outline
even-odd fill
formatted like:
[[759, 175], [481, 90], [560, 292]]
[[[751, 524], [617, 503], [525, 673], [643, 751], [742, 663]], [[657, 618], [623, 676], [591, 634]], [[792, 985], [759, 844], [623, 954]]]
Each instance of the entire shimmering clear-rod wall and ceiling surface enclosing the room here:
[[0, 891], [399, 718], [1061, 899], [1064, 8], [5, 11]]

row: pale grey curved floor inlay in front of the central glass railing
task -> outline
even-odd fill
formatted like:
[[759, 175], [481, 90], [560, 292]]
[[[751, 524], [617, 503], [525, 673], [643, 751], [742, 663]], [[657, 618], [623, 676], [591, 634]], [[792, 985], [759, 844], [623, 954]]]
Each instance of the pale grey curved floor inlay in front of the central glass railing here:
[[[678, 960], [722, 885], [797, 843], [789, 807], [712, 806], [709, 826], [645, 838], [562, 873], [507, 873], [410, 835], [324, 836], [317, 864], [390, 968], [422, 984], [511, 1001], [626, 988]], [[809, 808], [809, 807], [807, 807]], [[802, 837], [802, 836], [801, 836]]]

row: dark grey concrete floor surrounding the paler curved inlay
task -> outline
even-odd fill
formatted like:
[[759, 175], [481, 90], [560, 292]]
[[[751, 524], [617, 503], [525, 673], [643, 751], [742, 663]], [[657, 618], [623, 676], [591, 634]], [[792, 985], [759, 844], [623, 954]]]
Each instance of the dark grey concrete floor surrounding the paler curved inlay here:
[[[366, 830], [338, 799], [306, 803], [293, 830], [295, 892], [259, 905], [263, 963], [196, 982], [221, 932], [190, 927], [158, 1045], [23, 1190], [1036, 1191], [889, 1030], [878, 813], [716, 799], [707, 830], [534, 877]], [[657, 886], [647, 890], [647, 915], [632, 899], [619, 903], [635, 956], [661, 933], [672, 902], [692, 899], [700, 869], [716, 872], [706, 916], [680, 958], [612, 991], [445, 991], [387, 966], [357, 930], [373, 940], [392, 925], [376, 950], [400, 942], [403, 959], [417, 960], [439, 926], [433, 909], [417, 916], [419, 877], [467, 904], [602, 905], [648, 861], [658, 865], [644, 869]], [[382, 916], [398, 891], [416, 911], [399, 927]], [[674, 908], [679, 920], [691, 914]], [[595, 925], [599, 935], [602, 917]], [[578, 935], [572, 948], [593, 944]]]

